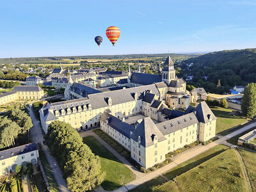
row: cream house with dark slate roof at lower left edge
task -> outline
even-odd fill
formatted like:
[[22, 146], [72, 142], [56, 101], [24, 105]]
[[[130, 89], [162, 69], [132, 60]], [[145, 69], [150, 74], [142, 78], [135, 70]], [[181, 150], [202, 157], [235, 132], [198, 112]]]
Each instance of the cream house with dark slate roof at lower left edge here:
[[15, 172], [16, 166], [38, 162], [38, 148], [36, 143], [29, 143], [19, 147], [9, 148], [0, 152], [0, 176], [7, 175], [10, 172]]

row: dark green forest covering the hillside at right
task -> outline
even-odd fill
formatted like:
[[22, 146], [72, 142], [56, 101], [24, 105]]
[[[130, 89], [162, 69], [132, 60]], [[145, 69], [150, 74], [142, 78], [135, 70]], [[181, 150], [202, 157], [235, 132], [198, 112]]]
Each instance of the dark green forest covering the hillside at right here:
[[[187, 67], [186, 64], [194, 63]], [[197, 58], [189, 58], [182, 71], [192, 74], [194, 86], [209, 86], [209, 92], [227, 92], [235, 85], [256, 82], [256, 49], [210, 52]], [[207, 81], [202, 76], [208, 76]]]

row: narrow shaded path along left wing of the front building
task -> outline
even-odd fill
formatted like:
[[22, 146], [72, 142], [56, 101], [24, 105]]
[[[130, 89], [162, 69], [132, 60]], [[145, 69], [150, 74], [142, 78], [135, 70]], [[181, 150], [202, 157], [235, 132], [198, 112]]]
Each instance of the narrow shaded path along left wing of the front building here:
[[127, 159], [125, 159], [125, 157], [121, 156], [120, 154], [118, 154], [118, 152], [116, 152], [115, 149], [113, 149], [110, 145], [108, 145], [108, 143], [106, 143], [106, 141], [102, 140], [102, 138], [100, 138], [95, 132], [93, 132], [92, 130], [90, 131], [84, 131], [84, 132], [79, 132], [79, 135], [84, 138], [86, 136], [93, 136], [95, 137], [100, 143], [102, 143], [102, 145], [104, 145], [104, 147], [108, 148], [108, 150], [117, 158], [119, 159], [125, 166], [127, 166], [127, 168], [129, 168], [129, 170], [131, 170], [132, 173], [134, 173], [136, 175], [136, 179], [142, 177], [143, 175], [146, 175], [145, 173], [141, 173], [140, 171], [137, 170], [137, 168], [135, 168], [129, 161], [127, 161]]

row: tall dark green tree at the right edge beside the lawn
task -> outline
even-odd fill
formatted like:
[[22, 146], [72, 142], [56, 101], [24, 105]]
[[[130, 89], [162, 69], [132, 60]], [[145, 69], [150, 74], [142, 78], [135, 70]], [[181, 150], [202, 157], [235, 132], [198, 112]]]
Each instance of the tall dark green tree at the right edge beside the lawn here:
[[253, 118], [256, 115], [256, 83], [250, 83], [244, 88], [241, 109], [243, 116]]

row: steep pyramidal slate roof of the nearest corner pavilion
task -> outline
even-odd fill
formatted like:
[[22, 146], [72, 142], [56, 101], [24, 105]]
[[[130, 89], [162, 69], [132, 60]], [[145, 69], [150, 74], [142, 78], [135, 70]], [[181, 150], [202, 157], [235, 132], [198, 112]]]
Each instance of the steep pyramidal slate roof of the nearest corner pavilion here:
[[131, 138], [138, 142], [139, 136], [141, 140], [140, 145], [143, 147], [154, 145], [155, 136], [157, 136], [158, 141], [166, 140], [150, 117], [146, 117], [140, 124], [136, 124], [135, 130], [131, 134]]

